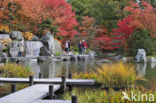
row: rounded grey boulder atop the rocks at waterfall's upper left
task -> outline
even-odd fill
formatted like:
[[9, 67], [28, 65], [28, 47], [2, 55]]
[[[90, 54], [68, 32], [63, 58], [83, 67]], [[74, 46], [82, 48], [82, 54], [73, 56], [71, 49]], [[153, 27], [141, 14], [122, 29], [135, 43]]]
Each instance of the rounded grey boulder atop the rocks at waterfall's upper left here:
[[22, 33], [20, 31], [12, 31], [10, 33], [10, 37], [13, 40], [20, 40], [20, 39], [24, 40], [23, 35], [22, 35]]

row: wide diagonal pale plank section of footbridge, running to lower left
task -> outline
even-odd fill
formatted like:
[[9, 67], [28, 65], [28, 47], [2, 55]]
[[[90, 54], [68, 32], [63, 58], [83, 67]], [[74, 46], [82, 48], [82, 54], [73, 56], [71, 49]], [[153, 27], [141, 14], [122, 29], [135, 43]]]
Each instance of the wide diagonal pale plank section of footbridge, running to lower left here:
[[[54, 91], [57, 91], [59, 88], [60, 85], [54, 85]], [[48, 91], [49, 85], [36, 84], [0, 98], [0, 103], [32, 103], [35, 100], [46, 97]]]

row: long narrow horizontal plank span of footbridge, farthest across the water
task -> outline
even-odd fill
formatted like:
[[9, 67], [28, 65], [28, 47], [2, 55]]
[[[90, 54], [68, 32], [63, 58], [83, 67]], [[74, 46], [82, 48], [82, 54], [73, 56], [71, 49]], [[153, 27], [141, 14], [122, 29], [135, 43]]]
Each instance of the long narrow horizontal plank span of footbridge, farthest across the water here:
[[[61, 78], [37, 79], [35, 84], [60, 84]], [[66, 79], [67, 85], [94, 85], [94, 79]], [[0, 83], [29, 83], [29, 78], [0, 78]]]

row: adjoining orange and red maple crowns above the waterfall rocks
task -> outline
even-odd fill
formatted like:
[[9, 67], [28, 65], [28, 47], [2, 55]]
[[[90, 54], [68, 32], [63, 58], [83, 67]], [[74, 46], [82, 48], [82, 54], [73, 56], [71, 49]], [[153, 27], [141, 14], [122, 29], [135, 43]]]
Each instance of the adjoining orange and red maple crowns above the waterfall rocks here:
[[78, 25], [75, 13], [65, 0], [17, 0], [21, 5], [23, 18], [37, 31], [37, 25], [46, 19], [52, 20], [52, 26], [58, 27], [59, 36], [73, 37], [77, 34], [74, 27]]

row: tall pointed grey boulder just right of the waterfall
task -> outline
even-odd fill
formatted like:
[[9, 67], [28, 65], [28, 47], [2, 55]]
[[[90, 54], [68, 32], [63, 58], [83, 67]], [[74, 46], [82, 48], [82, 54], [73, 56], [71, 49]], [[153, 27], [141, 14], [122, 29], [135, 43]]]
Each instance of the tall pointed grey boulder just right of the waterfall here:
[[50, 51], [50, 53], [54, 54], [54, 50], [55, 50], [55, 39], [52, 36], [52, 34], [50, 32], [48, 32], [46, 35], [44, 35], [41, 38], [41, 41], [43, 42], [43, 44], [45, 46], [47, 46], [47, 48]]

